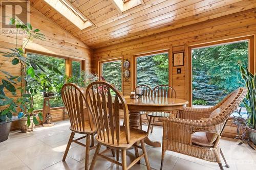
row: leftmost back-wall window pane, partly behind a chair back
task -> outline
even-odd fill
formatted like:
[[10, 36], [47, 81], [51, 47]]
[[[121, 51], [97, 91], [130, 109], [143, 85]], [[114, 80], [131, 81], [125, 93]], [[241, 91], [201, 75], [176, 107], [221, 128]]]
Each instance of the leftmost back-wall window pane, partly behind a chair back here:
[[119, 91], [122, 91], [121, 65], [121, 60], [101, 64], [103, 78], [106, 82], [113, 84]]

